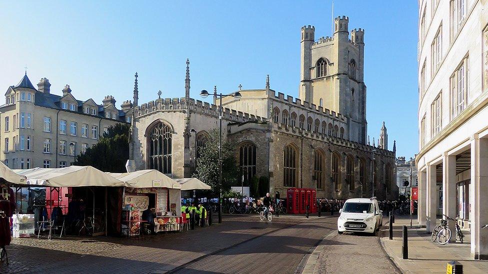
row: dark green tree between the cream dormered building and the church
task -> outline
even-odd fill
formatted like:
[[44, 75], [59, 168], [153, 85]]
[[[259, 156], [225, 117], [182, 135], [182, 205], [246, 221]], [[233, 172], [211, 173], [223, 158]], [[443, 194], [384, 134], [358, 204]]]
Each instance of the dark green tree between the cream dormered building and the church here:
[[126, 172], [129, 157], [130, 125], [115, 124], [103, 133], [100, 140], [85, 153], [76, 157], [75, 165], [92, 166], [104, 172]]

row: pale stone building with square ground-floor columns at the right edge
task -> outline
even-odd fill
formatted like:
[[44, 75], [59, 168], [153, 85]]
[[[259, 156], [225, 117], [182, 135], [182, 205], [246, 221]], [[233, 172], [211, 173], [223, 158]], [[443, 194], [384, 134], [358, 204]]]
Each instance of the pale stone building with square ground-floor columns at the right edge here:
[[418, 223], [431, 231], [439, 208], [457, 216], [472, 258], [486, 260], [488, 4], [419, 0], [418, 15]]

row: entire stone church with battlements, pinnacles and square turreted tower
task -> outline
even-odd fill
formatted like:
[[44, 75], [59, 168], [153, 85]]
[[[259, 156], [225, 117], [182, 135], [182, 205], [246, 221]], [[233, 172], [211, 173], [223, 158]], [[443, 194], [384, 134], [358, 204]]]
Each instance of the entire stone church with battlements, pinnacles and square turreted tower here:
[[[396, 199], [395, 147], [388, 150], [386, 128], [378, 146], [366, 137], [363, 79], [364, 30], [348, 30], [348, 18], [334, 20], [332, 37], [315, 40], [313, 26], [301, 28], [299, 98], [270, 88], [241, 89], [240, 99], [222, 99], [222, 132], [237, 144], [244, 185], [267, 177], [264, 187], [285, 197], [290, 187], [316, 189], [317, 198]], [[190, 177], [196, 147], [218, 128], [219, 99], [213, 104], [185, 96], [138, 104], [137, 76], [131, 159], [137, 169], [157, 169], [173, 178]], [[231, 94], [231, 93], [230, 93]]]

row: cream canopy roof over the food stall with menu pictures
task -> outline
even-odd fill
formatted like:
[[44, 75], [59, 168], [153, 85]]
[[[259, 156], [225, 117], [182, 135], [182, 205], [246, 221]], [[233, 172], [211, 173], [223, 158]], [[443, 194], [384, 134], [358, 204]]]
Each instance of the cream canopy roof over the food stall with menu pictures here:
[[124, 186], [131, 188], [174, 188], [181, 186], [173, 179], [155, 169], [138, 170], [126, 173], [107, 173], [110, 176], [122, 181]]

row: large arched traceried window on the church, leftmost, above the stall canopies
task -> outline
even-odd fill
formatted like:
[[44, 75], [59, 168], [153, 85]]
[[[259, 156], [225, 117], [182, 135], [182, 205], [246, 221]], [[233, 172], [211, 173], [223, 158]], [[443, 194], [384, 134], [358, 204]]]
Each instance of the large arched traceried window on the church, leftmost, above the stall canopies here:
[[149, 169], [171, 173], [171, 127], [157, 123], [149, 131]]

